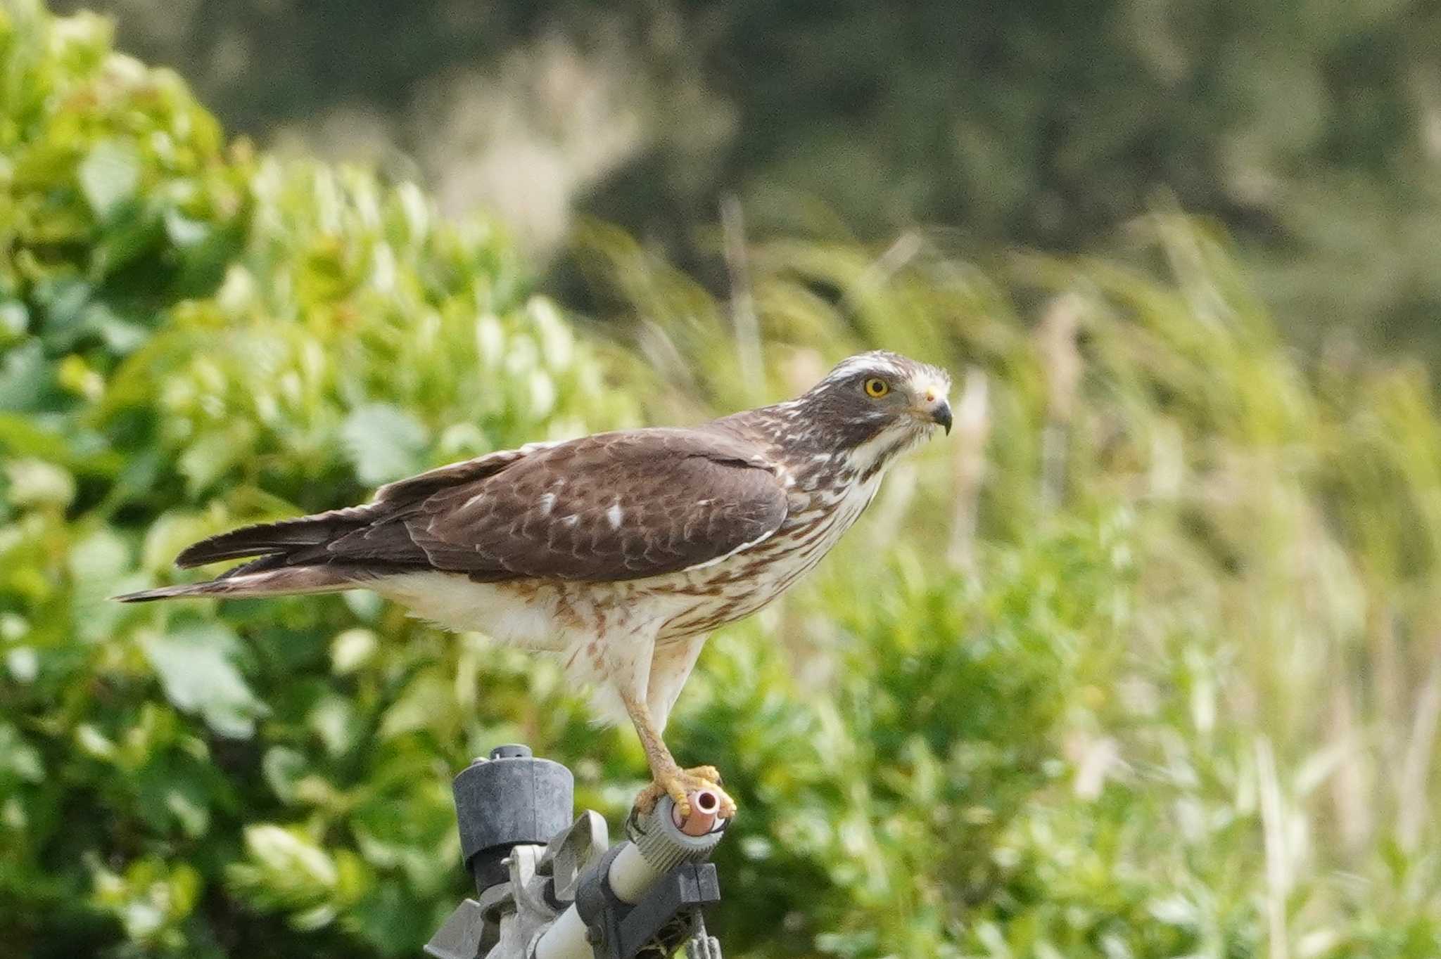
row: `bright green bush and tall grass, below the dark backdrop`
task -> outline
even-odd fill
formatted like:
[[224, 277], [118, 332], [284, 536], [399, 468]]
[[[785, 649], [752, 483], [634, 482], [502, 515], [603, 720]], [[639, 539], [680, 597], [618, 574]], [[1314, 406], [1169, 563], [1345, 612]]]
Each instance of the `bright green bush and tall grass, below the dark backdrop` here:
[[226, 145], [94, 17], [0, 9], [0, 147], [6, 955], [414, 955], [465, 887], [450, 775], [497, 742], [620, 815], [640, 750], [553, 664], [369, 593], [105, 598], [223, 527], [867, 344], [947, 363], [957, 429], [682, 697], [673, 746], [742, 803], [728, 949], [1441, 952], [1428, 386], [1298, 366], [1205, 229], [990, 276], [927, 235], [765, 243], [716, 301], [595, 225], [621, 344], [494, 226]]

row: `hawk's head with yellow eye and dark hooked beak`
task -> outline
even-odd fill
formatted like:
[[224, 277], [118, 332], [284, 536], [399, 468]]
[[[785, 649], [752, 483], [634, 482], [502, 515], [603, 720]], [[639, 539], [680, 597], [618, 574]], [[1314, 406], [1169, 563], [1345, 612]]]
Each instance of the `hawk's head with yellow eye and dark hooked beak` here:
[[842, 360], [795, 406], [830, 439], [834, 452], [865, 468], [889, 462], [935, 426], [951, 432], [950, 389], [945, 370], [873, 350]]

